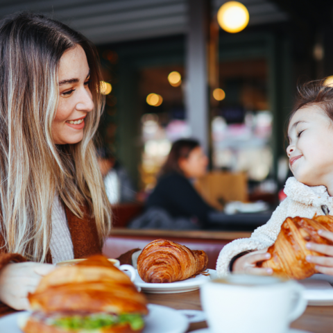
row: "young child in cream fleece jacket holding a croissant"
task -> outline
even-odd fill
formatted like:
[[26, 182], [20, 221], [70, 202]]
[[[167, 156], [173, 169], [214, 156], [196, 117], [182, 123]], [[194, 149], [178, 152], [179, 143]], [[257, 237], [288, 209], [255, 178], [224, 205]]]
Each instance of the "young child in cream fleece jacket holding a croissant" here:
[[[299, 89], [296, 107], [288, 126], [287, 155], [293, 176], [287, 180], [287, 198], [271, 219], [257, 228], [249, 239], [237, 239], [221, 250], [216, 270], [222, 277], [230, 272], [271, 275], [271, 268], [257, 268], [269, 259], [268, 246], [274, 244], [288, 216], [311, 219], [323, 215], [326, 206], [333, 214], [333, 87], [311, 82]], [[333, 232], [320, 230], [321, 237], [333, 241]], [[318, 272], [333, 275], [333, 246], [308, 243], [307, 248], [323, 256], [307, 257]]]

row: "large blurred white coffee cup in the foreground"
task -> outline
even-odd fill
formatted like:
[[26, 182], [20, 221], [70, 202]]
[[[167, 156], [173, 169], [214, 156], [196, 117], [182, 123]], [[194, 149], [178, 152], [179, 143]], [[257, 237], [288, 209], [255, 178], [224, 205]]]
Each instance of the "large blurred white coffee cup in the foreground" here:
[[212, 333], [285, 333], [307, 307], [297, 282], [255, 275], [207, 282], [200, 298]]

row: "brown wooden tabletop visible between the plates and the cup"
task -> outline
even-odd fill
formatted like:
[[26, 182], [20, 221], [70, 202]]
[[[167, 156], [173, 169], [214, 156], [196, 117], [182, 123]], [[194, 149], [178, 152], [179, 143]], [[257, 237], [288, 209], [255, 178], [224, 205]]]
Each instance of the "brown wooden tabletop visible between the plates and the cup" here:
[[[172, 307], [173, 309], [201, 310], [199, 291], [189, 293], [146, 293], [148, 302]], [[207, 327], [205, 322], [192, 323], [187, 332]], [[307, 307], [305, 313], [291, 324], [298, 330], [312, 333], [333, 332], [333, 307]], [[269, 332], [269, 329], [267, 330]]]

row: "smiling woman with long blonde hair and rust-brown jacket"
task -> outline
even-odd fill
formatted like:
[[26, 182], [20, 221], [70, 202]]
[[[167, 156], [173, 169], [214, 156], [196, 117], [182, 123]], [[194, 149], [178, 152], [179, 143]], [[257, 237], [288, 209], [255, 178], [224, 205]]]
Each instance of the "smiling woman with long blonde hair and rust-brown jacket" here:
[[51, 263], [101, 253], [110, 206], [92, 142], [104, 104], [94, 46], [21, 13], [1, 25], [0, 58], [3, 313], [28, 308]]

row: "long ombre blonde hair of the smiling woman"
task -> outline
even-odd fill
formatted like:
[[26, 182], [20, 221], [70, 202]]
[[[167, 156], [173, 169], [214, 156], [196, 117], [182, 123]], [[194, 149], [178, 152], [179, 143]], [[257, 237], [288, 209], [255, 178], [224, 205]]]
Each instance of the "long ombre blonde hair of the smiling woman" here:
[[[58, 108], [58, 66], [63, 53], [83, 47], [94, 110], [83, 140], [56, 145], [51, 127]], [[110, 230], [110, 205], [96, 161], [93, 137], [104, 106], [94, 45], [56, 20], [29, 12], [0, 28], [0, 210], [5, 248], [44, 262], [51, 239], [53, 199], [76, 216], [94, 216], [101, 243]]]

